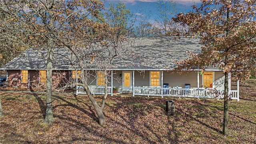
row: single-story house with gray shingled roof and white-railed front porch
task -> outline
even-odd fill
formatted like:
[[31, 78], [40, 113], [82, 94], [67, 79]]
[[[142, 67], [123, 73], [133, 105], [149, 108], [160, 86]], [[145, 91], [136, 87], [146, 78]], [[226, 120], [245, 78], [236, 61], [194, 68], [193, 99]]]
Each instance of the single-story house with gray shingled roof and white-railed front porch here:
[[[117, 87], [119, 93], [132, 93], [144, 96], [178, 96], [213, 98], [209, 91], [216, 88], [224, 92], [224, 74], [218, 68], [206, 68], [203, 74], [200, 69], [179, 75], [173, 72], [175, 61], [188, 58], [186, 51], [200, 52], [198, 39], [181, 37], [174, 40], [172, 36], [156, 36], [136, 38], [129, 48], [135, 52], [132, 56], [122, 57], [112, 62], [108, 93]], [[29, 88], [31, 86], [45, 86], [46, 82], [46, 52], [29, 49], [8, 64], [0, 68], [7, 70], [9, 86]], [[56, 48], [53, 60], [53, 86], [64, 86], [71, 79], [78, 80], [80, 70], [75, 70], [64, 56], [72, 56], [65, 48]], [[128, 58], [129, 57], [129, 58]], [[166, 70], [168, 67], [168, 70]], [[104, 94], [104, 76], [94, 66], [88, 68], [89, 88], [93, 94]], [[237, 90], [231, 90], [229, 74], [229, 93], [232, 99], [239, 100], [239, 81]], [[210, 89], [206, 89], [209, 87]], [[84, 93], [83, 88], [77, 86], [76, 94]], [[220, 98], [220, 97], [218, 97]]]

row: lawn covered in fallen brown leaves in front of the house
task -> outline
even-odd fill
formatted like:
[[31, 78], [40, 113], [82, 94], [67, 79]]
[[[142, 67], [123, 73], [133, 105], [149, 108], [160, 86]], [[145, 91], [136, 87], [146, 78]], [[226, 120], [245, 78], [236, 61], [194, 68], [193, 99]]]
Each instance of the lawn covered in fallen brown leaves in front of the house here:
[[[236, 84], [232, 85], [236, 86]], [[43, 125], [44, 94], [1, 91], [4, 117], [2, 144], [254, 144], [256, 143], [256, 80], [240, 83], [240, 101], [229, 104], [229, 132], [222, 133], [223, 101], [108, 96], [106, 127], [85, 95], [54, 93], [54, 123]], [[233, 88], [234, 89], [234, 88]], [[96, 96], [101, 100], [102, 96]], [[176, 114], [166, 114], [166, 100]]]

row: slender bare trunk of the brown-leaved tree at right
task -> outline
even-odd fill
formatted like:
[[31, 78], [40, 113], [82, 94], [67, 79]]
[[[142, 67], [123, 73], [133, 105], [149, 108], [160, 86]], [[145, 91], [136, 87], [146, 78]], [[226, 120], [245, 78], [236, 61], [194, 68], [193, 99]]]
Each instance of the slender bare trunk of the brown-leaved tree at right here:
[[223, 135], [228, 136], [228, 73], [225, 72], [224, 82], [224, 116], [223, 116]]

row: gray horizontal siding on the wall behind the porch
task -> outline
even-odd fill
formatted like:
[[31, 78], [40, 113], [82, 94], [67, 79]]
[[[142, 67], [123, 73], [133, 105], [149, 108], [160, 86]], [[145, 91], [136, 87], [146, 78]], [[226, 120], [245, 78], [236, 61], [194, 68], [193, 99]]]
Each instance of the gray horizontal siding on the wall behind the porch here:
[[[132, 71], [131, 71], [132, 72]], [[113, 87], [118, 87], [118, 92], [122, 92], [122, 70], [113, 71]], [[160, 72], [161, 74], [161, 72]], [[163, 72], [163, 83], [169, 84], [172, 87], [185, 87], [185, 84], [190, 84], [191, 88], [197, 88], [197, 71], [179, 75], [172, 72]], [[96, 85], [96, 72], [91, 72], [90, 85]], [[111, 86], [111, 79], [109, 79], [108, 86]], [[223, 72], [214, 72], [215, 88], [224, 90], [224, 74]], [[160, 75], [161, 84], [161, 75]], [[134, 86], [150, 86], [150, 71], [138, 72], [134, 71]], [[199, 75], [199, 87], [202, 88], [202, 75]]]

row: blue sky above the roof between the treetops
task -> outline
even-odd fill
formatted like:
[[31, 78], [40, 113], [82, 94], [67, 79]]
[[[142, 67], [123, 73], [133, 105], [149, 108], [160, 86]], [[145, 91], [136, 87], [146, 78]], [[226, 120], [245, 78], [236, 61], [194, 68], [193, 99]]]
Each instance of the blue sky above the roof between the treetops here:
[[[142, 12], [146, 12], [152, 20], [157, 19], [157, 0], [120, 0], [122, 3], [126, 5], [127, 9], [131, 10], [131, 13], [134, 15], [140, 14], [140, 9]], [[174, 0], [176, 2], [176, 10], [177, 13], [187, 13], [192, 10], [192, 5], [200, 6], [200, 0]], [[104, 6], [108, 9], [109, 4], [116, 4], [118, 0], [106, 0], [104, 2]]]

